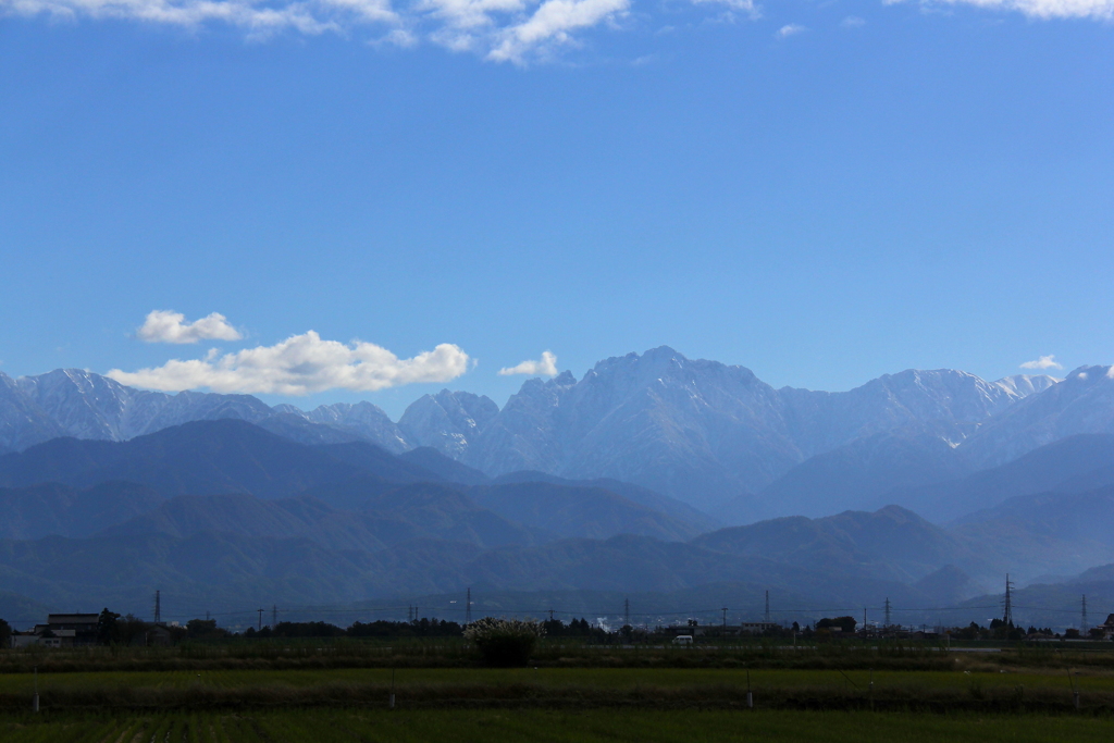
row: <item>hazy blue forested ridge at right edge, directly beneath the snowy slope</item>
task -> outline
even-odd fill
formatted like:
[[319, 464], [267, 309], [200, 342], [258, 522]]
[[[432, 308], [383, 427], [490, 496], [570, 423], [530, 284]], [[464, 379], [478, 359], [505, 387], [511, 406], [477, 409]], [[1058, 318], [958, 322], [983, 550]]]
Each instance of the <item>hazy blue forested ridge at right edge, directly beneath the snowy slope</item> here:
[[1105, 479], [1110, 476], [1114, 476], [1114, 434], [1078, 434], [1040, 447], [1000, 467], [958, 480], [895, 489], [881, 499], [944, 522], [991, 508], [1016, 496], [1101, 487], [1114, 482]]

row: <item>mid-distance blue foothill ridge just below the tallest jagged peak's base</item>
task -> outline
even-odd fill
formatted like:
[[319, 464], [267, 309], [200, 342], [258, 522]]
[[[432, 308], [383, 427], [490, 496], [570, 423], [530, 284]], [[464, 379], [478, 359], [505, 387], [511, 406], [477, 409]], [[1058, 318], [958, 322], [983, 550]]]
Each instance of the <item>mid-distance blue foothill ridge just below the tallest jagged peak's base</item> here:
[[688, 524], [603, 488], [547, 482], [510, 482], [468, 491], [477, 505], [557, 537], [603, 539], [618, 534], [684, 540], [698, 531]]

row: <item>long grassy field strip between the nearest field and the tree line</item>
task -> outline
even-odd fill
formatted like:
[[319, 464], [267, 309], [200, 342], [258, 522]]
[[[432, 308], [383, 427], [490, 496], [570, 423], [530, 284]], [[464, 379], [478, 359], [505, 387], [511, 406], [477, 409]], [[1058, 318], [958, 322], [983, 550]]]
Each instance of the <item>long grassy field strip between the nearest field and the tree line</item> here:
[[339, 668], [0, 674], [0, 710], [873, 710], [1114, 713], [1114, 672], [729, 668]]

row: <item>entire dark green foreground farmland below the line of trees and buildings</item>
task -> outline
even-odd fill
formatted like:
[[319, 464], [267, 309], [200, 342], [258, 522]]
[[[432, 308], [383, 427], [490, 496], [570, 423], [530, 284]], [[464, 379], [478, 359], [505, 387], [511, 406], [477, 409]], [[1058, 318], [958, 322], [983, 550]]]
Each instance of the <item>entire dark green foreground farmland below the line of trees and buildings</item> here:
[[1106, 653], [597, 648], [485, 668], [456, 652], [439, 667], [427, 651], [380, 648], [369, 666], [359, 653], [303, 649], [6, 654], [0, 741], [985, 743], [1114, 733]]

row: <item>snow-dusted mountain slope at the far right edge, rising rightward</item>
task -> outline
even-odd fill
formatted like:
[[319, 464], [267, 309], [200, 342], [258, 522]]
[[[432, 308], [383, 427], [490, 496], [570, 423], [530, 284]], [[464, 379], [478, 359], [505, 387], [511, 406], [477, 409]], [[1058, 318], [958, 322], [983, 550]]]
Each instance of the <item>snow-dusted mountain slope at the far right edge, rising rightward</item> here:
[[1069, 436], [1114, 433], [1112, 366], [1081, 366], [1064, 381], [995, 417], [964, 443], [980, 467], [1012, 461]]

